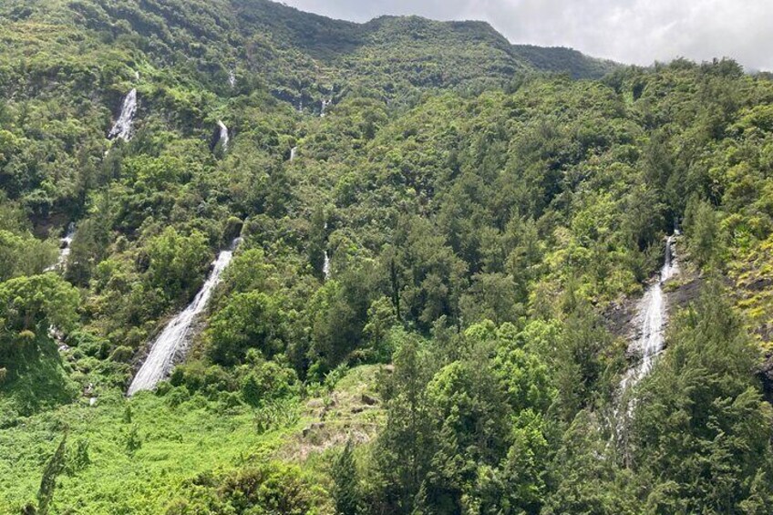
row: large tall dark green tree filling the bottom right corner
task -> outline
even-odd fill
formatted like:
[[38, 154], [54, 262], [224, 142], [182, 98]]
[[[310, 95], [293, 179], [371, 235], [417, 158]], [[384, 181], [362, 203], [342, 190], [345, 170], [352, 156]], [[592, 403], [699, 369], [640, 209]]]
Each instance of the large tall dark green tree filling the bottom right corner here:
[[773, 436], [752, 375], [758, 349], [716, 283], [674, 325], [635, 396], [634, 470], [649, 482], [651, 510], [740, 512], [773, 485], [755, 481], [768, 474]]

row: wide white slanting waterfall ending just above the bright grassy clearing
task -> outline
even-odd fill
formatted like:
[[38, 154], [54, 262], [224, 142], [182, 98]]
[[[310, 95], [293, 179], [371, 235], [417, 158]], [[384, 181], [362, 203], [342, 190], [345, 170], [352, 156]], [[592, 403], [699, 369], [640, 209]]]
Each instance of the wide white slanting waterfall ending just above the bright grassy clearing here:
[[131, 381], [127, 396], [131, 397], [140, 390], [151, 390], [159, 384], [159, 381], [169, 376], [175, 358], [187, 350], [186, 347], [190, 343], [191, 326], [197, 315], [201, 314], [207, 306], [212, 290], [220, 283], [222, 271], [225, 270], [228, 263], [231, 263], [233, 251], [239, 242], [240, 239], [237, 238], [229, 250], [220, 252], [213, 263], [210, 276], [201, 287], [201, 291], [196, 294], [196, 298], [164, 327], [164, 330], [153, 342], [145, 363], [142, 364], [137, 376], [134, 376]]

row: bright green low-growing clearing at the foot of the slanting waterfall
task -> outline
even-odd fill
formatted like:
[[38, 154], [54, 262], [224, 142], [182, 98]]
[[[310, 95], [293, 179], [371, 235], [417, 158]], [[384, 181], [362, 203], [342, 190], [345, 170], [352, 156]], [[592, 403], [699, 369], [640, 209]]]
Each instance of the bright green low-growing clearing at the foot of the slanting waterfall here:
[[186, 479], [268, 461], [299, 428], [260, 432], [252, 409], [198, 396], [176, 407], [149, 393], [128, 400], [114, 391], [95, 407], [83, 399], [0, 431], [0, 512], [18, 513], [35, 499], [66, 429], [68, 448], [88, 441], [89, 463], [60, 477], [54, 512], [156, 514]]

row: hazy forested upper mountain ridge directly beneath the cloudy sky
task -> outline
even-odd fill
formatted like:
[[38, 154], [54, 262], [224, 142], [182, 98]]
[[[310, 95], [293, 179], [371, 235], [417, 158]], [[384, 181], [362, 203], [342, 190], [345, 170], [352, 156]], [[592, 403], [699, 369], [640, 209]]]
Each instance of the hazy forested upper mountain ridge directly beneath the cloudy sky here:
[[0, 9], [14, 31], [66, 24], [81, 41], [86, 30], [158, 65], [195, 62], [198, 79], [215, 89], [242, 69], [263, 77], [279, 98], [316, 109], [344, 87], [406, 99], [428, 88], [504, 86], [541, 71], [601, 77], [614, 67], [565, 49], [512, 46], [480, 22], [385, 16], [358, 25], [268, 0], [8, 2]]

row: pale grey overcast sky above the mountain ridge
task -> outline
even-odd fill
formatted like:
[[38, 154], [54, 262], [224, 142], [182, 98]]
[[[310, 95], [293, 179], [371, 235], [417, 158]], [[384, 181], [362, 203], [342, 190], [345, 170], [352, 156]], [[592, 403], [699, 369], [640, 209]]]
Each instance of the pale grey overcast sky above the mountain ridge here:
[[773, 69], [773, 0], [285, 0], [304, 11], [367, 21], [377, 15], [479, 19], [513, 43], [572, 46], [650, 65], [734, 57]]

